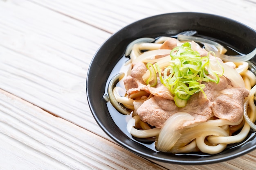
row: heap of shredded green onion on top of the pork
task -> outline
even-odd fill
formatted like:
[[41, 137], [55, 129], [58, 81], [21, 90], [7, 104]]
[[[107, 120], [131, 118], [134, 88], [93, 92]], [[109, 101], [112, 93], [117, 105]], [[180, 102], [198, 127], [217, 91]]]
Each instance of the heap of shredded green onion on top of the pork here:
[[161, 83], [174, 95], [177, 107], [184, 107], [190, 96], [197, 92], [201, 91], [206, 97], [203, 91], [205, 85], [201, 84], [202, 81], [219, 83], [219, 76], [224, 73], [223, 67], [217, 61], [222, 72], [212, 70], [210, 54], [215, 55], [209, 52], [207, 56], [200, 57], [197, 51], [191, 49], [191, 44], [186, 42], [171, 50], [170, 56], [173, 62], [164, 68], [163, 75], [159, 65], [155, 64]]

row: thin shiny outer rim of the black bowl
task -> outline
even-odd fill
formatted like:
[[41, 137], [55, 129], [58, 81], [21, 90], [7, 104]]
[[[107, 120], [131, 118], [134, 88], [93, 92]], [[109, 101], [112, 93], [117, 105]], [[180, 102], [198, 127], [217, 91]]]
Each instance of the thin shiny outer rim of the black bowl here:
[[[216, 159], [209, 159], [209, 160], [202, 160], [202, 159], [198, 159], [197, 161], [193, 160], [193, 161], [184, 161], [184, 160], [173, 160], [173, 159], [166, 159], [166, 158], [163, 158], [163, 157], [158, 157], [157, 155], [153, 154], [153, 155], [148, 155], [144, 152], [141, 152], [140, 150], [137, 150], [133, 147], [131, 147], [130, 145], [128, 145], [127, 143], [125, 143], [123, 140], [120, 140], [120, 136], [117, 136], [113, 133], [111, 133], [111, 131], [109, 129], [107, 129], [103, 122], [101, 122], [101, 120], [99, 119], [99, 116], [98, 116], [98, 113], [96, 112], [95, 110], [95, 106], [94, 106], [94, 103], [93, 101], [91, 100], [91, 96], [92, 96], [92, 92], [90, 91], [90, 87], [92, 86], [92, 84], [89, 84], [88, 82], [90, 81], [89, 79], [90, 78], [96, 78], [96, 76], [92, 73], [93, 70], [94, 70], [94, 66], [95, 66], [95, 62], [97, 63], [97, 59], [99, 58], [98, 57], [98, 53], [100, 52], [101, 48], [106, 45], [110, 39], [112, 39], [113, 37], [115, 36], [118, 36], [122, 31], [125, 31], [126, 28], [128, 27], [131, 27], [135, 24], [138, 24], [144, 20], [150, 20], [152, 18], [155, 18], [155, 17], [164, 17], [166, 15], [205, 15], [205, 16], [211, 16], [211, 17], [218, 17], [218, 18], [222, 18], [224, 20], [229, 20], [231, 22], [234, 22], [234, 23], [237, 23], [239, 25], [242, 25], [244, 27], [247, 27], [248, 29], [254, 31], [254, 33], [256, 34], [256, 31], [253, 29], [253, 28], [250, 28], [249, 26], [241, 23], [241, 22], [238, 22], [236, 20], [233, 20], [233, 19], [230, 19], [230, 18], [227, 18], [227, 17], [223, 17], [223, 16], [220, 16], [220, 15], [214, 15], [214, 14], [210, 14], [210, 13], [198, 13], [198, 12], [177, 12], [177, 13], [163, 13], [163, 14], [159, 14], [159, 15], [153, 15], [153, 16], [150, 16], [150, 17], [146, 17], [146, 18], [143, 18], [141, 20], [137, 20], [135, 22], [132, 22], [131, 24], [128, 24], [127, 26], [125, 26], [124, 28], [121, 28], [119, 31], [117, 31], [116, 33], [112, 34], [108, 39], [106, 39], [106, 41], [103, 42], [103, 44], [99, 47], [99, 49], [95, 52], [93, 58], [92, 58], [92, 61], [89, 65], [89, 68], [88, 68], [88, 74], [87, 74], [87, 78], [86, 78], [86, 93], [87, 93], [87, 100], [88, 100], [88, 105], [90, 107], [90, 111], [94, 117], [94, 119], [96, 120], [97, 124], [100, 126], [100, 128], [111, 138], [113, 139], [115, 142], [117, 142], [117, 144], [119, 144], [120, 146], [122, 146], [123, 148], [125, 148], [126, 150], [129, 150], [131, 151], [132, 153], [135, 153], [136, 155], [139, 155], [141, 157], [145, 157], [145, 158], [148, 158], [148, 159], [153, 159], [153, 160], [156, 160], [156, 161], [161, 161], [161, 162], [166, 162], [166, 163], [175, 163], [175, 164], [184, 164], [184, 165], [201, 165], [201, 164], [209, 164], [209, 163], [218, 163], [218, 162], [222, 162], [222, 161], [227, 161], [227, 160], [230, 160], [230, 159], [234, 159], [236, 157], [240, 157], [246, 153], [249, 153], [250, 151], [254, 150], [256, 148], [256, 145], [255, 146], [252, 146], [251, 148], [248, 148], [248, 149], [245, 149], [243, 150], [242, 152], [240, 153], [236, 153], [236, 154], [230, 154], [229, 156], [226, 156], [226, 157], [220, 157], [220, 158], [216, 158]], [[106, 82], [107, 83], [107, 82]], [[105, 86], [104, 86], [105, 88]], [[102, 94], [103, 96], [103, 94]], [[99, 100], [103, 100], [102, 98], [99, 99]], [[106, 109], [106, 107], [105, 107]], [[112, 120], [110, 120], [112, 121]], [[111, 122], [112, 123], [112, 122]], [[116, 126], [117, 125], [113, 125], [113, 126]], [[118, 127], [117, 127], [118, 128]], [[125, 136], [124, 136], [125, 137]], [[127, 137], [127, 136], [126, 136]]]

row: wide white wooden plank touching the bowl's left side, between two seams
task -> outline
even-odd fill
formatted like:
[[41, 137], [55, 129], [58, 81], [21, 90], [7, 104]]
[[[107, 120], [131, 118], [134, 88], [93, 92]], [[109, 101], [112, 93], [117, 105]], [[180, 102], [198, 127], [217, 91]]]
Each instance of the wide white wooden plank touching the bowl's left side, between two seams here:
[[86, 75], [109, 36], [31, 2], [0, 1], [0, 88], [106, 137], [88, 107]]

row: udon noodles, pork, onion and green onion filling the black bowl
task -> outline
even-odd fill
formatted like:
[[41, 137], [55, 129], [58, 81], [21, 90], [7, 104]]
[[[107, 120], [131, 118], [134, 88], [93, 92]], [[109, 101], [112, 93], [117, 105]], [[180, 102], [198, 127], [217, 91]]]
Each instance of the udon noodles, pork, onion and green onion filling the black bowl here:
[[227, 50], [183, 33], [132, 41], [108, 86], [130, 134], [171, 153], [217, 154], [243, 141], [256, 120], [256, 77], [246, 61], [223, 61]]

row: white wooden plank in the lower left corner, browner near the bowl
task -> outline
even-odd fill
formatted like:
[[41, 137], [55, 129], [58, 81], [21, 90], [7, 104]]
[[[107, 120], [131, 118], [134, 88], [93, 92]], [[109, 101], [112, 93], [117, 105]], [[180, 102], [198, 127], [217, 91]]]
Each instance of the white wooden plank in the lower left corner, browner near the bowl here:
[[163, 169], [0, 90], [0, 169]]

